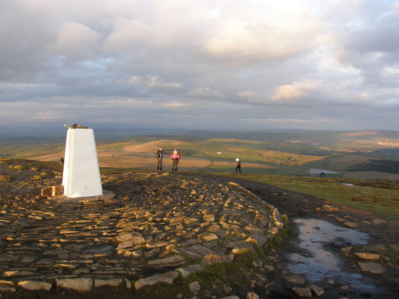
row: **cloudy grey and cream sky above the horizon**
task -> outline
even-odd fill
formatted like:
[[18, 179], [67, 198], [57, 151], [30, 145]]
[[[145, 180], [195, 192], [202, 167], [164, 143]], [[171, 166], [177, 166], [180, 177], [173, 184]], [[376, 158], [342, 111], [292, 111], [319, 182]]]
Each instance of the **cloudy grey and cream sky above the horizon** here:
[[0, 126], [399, 130], [399, 0], [0, 0]]

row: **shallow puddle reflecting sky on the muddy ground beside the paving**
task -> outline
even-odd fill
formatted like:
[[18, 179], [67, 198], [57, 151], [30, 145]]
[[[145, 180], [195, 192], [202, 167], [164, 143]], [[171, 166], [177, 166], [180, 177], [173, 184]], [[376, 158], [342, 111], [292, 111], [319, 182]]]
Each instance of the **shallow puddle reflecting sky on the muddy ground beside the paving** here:
[[356, 273], [345, 273], [340, 269], [340, 257], [328, 251], [327, 245], [339, 247], [367, 244], [368, 235], [353, 229], [338, 227], [327, 221], [316, 219], [296, 219], [299, 228], [299, 244], [306, 252], [292, 253], [288, 256], [290, 264], [287, 268], [292, 273], [302, 274], [311, 281], [331, 278], [350, 285], [354, 289], [370, 289], [363, 278]]

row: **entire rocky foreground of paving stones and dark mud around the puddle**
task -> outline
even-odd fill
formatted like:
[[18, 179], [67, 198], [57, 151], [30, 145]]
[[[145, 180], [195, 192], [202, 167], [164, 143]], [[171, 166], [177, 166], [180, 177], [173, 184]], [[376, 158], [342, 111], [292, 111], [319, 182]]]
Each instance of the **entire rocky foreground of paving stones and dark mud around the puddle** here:
[[[61, 177], [29, 163], [0, 164], [2, 298], [338, 299], [399, 292], [398, 223], [390, 219], [196, 173], [103, 175], [102, 197], [46, 198], [41, 189], [59, 185]], [[362, 273], [378, 291], [287, 272], [280, 265], [299, 249], [292, 223], [281, 232], [279, 211], [367, 232], [369, 247], [327, 246], [342, 257], [343, 269]], [[286, 241], [273, 243], [281, 235]]]

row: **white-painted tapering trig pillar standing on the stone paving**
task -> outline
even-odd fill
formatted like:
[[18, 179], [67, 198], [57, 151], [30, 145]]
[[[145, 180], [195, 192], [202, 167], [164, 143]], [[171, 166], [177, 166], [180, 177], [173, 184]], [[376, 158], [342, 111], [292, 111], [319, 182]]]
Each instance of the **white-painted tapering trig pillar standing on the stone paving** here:
[[68, 129], [62, 188], [67, 197], [103, 195], [93, 129]]

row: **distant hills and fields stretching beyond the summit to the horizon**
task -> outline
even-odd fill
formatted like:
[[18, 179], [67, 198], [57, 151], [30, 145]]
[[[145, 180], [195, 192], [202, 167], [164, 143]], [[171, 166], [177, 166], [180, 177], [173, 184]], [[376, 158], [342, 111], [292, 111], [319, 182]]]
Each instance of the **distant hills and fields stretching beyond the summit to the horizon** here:
[[[59, 162], [66, 132], [66, 128], [48, 133], [1, 131], [0, 157]], [[340, 176], [351, 172], [353, 177], [363, 177], [364, 172], [378, 177], [399, 174], [398, 131], [94, 128], [94, 134], [103, 167], [153, 168], [155, 152], [162, 147], [166, 157], [178, 148], [184, 156], [182, 170], [234, 171], [238, 157], [246, 173], [306, 176], [308, 168], [317, 168], [340, 172]]]

